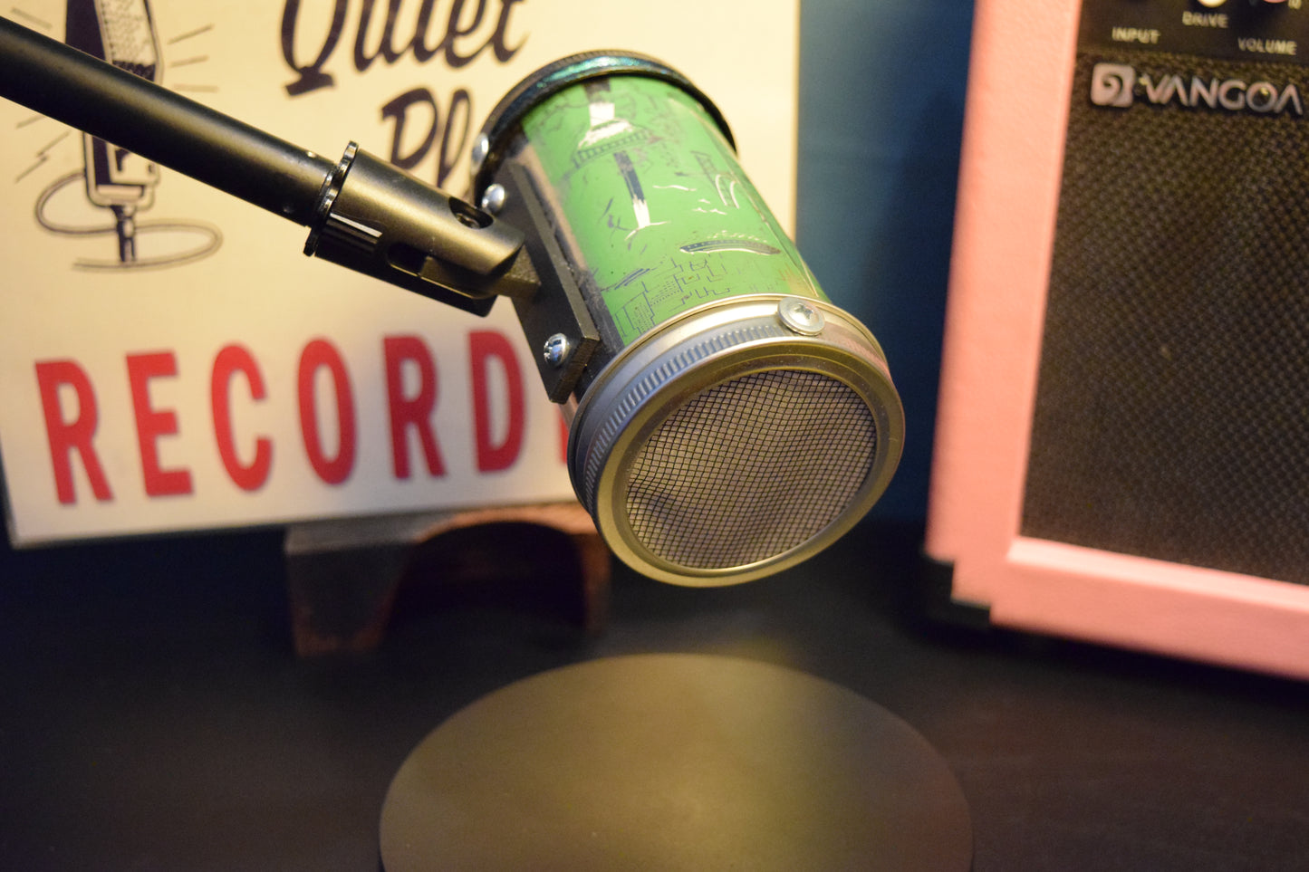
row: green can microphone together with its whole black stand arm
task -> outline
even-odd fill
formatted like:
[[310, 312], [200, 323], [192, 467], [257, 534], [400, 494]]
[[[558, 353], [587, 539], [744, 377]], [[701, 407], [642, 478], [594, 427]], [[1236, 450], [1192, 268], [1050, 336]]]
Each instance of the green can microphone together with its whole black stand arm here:
[[479, 206], [3, 18], [0, 97], [308, 227], [306, 254], [476, 314], [513, 299], [572, 414], [577, 496], [645, 575], [716, 585], [795, 566], [899, 460], [877, 340], [818, 288], [712, 102], [657, 60], [588, 52], [511, 90], [475, 147]]

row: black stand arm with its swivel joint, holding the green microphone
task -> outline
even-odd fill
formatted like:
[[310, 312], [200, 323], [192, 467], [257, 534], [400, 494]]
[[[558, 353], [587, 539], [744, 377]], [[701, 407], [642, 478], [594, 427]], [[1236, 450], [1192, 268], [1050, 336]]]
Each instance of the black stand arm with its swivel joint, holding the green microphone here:
[[466, 312], [541, 284], [521, 230], [353, 143], [334, 162], [7, 18], [0, 97], [308, 227], [305, 254]]

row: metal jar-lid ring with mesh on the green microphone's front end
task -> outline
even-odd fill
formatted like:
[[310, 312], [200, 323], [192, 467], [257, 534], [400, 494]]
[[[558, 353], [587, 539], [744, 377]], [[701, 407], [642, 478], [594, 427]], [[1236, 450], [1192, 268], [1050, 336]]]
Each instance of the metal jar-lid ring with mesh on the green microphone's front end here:
[[822, 550], [890, 481], [905, 416], [872, 334], [840, 309], [747, 295], [687, 310], [607, 363], [576, 407], [569, 471], [623, 562], [696, 587]]

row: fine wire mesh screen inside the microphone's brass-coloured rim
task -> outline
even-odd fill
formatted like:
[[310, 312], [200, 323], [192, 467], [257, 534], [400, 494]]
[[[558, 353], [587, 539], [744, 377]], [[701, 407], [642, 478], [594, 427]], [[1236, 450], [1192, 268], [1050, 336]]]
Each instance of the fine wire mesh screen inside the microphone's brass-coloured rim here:
[[877, 454], [867, 403], [829, 376], [776, 369], [695, 395], [630, 465], [627, 520], [656, 556], [719, 570], [821, 533]]

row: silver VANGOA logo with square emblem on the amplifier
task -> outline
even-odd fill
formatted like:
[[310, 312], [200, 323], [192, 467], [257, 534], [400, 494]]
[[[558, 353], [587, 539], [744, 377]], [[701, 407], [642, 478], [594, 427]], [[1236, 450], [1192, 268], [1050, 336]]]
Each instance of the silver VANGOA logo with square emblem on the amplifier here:
[[1272, 82], [1246, 82], [1241, 79], [1202, 79], [1187, 82], [1175, 73], [1149, 76], [1130, 64], [1100, 63], [1090, 73], [1090, 102], [1096, 106], [1127, 109], [1136, 100], [1155, 106], [1175, 103], [1183, 109], [1224, 109], [1259, 115], [1302, 117], [1304, 105], [1295, 82], [1278, 88]]

